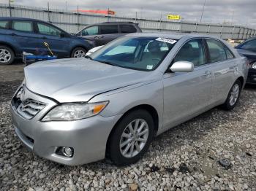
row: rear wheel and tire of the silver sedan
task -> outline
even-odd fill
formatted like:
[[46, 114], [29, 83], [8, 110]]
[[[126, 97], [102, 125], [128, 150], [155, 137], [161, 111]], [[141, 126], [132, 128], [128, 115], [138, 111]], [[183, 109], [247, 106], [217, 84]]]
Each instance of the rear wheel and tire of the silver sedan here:
[[222, 109], [225, 109], [227, 111], [232, 110], [236, 106], [240, 98], [240, 93], [241, 93], [241, 82], [240, 80], [237, 79], [236, 82], [231, 87], [225, 103], [222, 104]]

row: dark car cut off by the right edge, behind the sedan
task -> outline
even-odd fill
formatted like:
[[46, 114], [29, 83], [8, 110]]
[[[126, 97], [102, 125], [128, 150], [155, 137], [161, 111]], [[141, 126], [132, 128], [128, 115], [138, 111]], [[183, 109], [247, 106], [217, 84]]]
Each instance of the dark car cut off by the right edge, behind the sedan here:
[[249, 74], [247, 77], [247, 83], [256, 85], [256, 37], [247, 39], [241, 44], [238, 44], [236, 49], [249, 61]]

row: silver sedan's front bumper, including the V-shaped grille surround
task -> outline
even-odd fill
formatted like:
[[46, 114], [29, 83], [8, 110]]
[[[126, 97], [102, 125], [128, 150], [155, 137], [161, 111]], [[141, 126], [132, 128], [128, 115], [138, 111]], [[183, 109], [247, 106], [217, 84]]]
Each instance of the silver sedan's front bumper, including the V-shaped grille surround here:
[[[118, 116], [97, 115], [84, 120], [66, 122], [41, 122], [42, 116], [56, 105], [55, 101], [32, 93], [26, 88], [27, 97], [47, 103], [31, 120], [26, 120], [11, 106], [12, 120], [19, 139], [40, 157], [64, 165], [80, 165], [105, 158], [108, 136], [119, 119]], [[72, 147], [74, 155], [59, 155], [59, 147]]]

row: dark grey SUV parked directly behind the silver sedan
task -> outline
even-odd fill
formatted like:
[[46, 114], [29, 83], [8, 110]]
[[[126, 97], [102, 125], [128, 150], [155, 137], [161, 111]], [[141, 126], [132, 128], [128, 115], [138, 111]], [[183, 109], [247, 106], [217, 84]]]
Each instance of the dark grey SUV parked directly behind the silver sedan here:
[[83, 28], [76, 35], [94, 41], [96, 46], [102, 46], [125, 34], [141, 32], [138, 23], [105, 22], [86, 26], [86, 28]]

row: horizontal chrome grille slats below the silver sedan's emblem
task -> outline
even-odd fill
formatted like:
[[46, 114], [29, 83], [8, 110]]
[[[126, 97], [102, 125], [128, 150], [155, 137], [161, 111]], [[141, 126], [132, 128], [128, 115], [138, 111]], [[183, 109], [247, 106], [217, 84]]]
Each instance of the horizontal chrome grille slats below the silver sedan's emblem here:
[[17, 108], [17, 112], [26, 120], [31, 120], [42, 109], [44, 109], [45, 106], [45, 103], [34, 101], [28, 98], [26, 99], [26, 101], [21, 102], [21, 104]]

